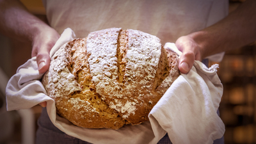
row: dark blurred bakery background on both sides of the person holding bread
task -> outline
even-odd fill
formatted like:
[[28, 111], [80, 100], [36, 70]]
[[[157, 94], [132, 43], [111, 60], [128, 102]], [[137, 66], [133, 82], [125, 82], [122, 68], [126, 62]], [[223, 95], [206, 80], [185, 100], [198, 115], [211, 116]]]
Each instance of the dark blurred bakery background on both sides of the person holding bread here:
[[[28, 10], [47, 22], [40, 0], [20, 0]], [[232, 12], [244, 0], [230, 0]], [[5, 86], [17, 68], [31, 58], [31, 45], [0, 34], [0, 144], [35, 143], [36, 120], [41, 106], [6, 111]], [[209, 61], [211, 66], [215, 62]], [[220, 117], [225, 124], [225, 143], [256, 143], [256, 42], [227, 51], [218, 63], [223, 83]]]

